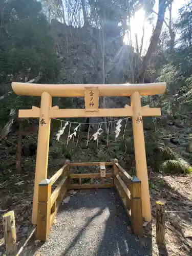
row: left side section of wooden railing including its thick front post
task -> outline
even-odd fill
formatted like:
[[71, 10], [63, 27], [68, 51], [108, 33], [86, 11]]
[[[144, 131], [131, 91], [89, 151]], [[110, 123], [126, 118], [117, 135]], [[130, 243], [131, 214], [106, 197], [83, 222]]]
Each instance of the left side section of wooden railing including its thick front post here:
[[[59, 177], [61, 182], [53, 193], [51, 186]], [[51, 225], [53, 224], [58, 206], [62, 198], [67, 195], [69, 185], [69, 163], [66, 162], [58, 172], [51, 178], [42, 180], [38, 186], [38, 215], [37, 215], [37, 239], [46, 241]]]

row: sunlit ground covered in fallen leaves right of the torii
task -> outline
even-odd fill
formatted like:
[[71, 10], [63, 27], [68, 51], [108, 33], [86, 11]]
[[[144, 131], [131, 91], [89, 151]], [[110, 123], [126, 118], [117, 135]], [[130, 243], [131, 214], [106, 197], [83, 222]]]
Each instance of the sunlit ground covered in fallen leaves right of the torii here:
[[[168, 254], [173, 256], [192, 254], [192, 218], [190, 212], [192, 210], [192, 176], [160, 177], [153, 174], [151, 180], [153, 183], [159, 184], [158, 188], [153, 188], [150, 191], [154, 216], [156, 214], [155, 201], [158, 199], [167, 201], [165, 242]], [[159, 182], [161, 180], [163, 182]], [[155, 227], [153, 227], [153, 231], [155, 233]]]

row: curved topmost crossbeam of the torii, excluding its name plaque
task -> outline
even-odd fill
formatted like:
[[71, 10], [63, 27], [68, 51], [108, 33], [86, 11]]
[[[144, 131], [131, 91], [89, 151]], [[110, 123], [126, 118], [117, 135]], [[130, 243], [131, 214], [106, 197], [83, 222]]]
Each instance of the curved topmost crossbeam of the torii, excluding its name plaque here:
[[13, 91], [18, 95], [41, 96], [43, 92], [52, 97], [84, 97], [84, 88], [98, 87], [99, 96], [131, 96], [139, 92], [141, 96], [162, 94], [166, 83], [120, 83], [120, 84], [38, 84], [13, 82]]

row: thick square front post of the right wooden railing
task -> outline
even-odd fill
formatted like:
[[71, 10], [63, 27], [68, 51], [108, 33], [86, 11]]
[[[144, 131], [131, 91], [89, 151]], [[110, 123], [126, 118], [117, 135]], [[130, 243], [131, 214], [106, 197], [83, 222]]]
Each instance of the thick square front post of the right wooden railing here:
[[133, 177], [131, 183], [131, 222], [136, 235], [143, 235], [143, 217], [141, 202], [141, 181]]

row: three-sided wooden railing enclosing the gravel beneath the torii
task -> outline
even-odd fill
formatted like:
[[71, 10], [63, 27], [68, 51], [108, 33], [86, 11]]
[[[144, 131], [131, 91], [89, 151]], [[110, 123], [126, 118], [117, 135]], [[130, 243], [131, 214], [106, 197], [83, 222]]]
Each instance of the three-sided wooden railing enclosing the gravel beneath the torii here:
[[[70, 166], [100, 166], [100, 173], [70, 174]], [[105, 166], [113, 166], [113, 172], [105, 172]], [[104, 177], [101, 176], [104, 169]], [[52, 193], [51, 187], [56, 180], [62, 177]], [[122, 177], [122, 178], [121, 178]], [[83, 184], [81, 179], [89, 178], [90, 183]], [[93, 179], [101, 178], [101, 183], [94, 183]], [[78, 184], [70, 184], [70, 179], [78, 179]], [[105, 179], [110, 179], [106, 182]], [[128, 186], [124, 183], [125, 180]], [[116, 187], [118, 194], [125, 207], [127, 215], [131, 218], [132, 228], [135, 234], [143, 234], [143, 218], [141, 204], [141, 181], [137, 177], [131, 177], [119, 165], [117, 160], [113, 162], [71, 163], [66, 161], [65, 165], [53, 175], [51, 179], [42, 180], [38, 186], [38, 216], [37, 216], [37, 239], [46, 241], [51, 225], [54, 221], [59, 203], [67, 195], [69, 189], [82, 188], [104, 188]]]

